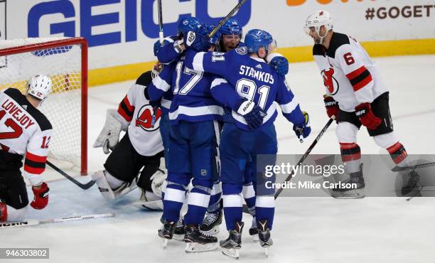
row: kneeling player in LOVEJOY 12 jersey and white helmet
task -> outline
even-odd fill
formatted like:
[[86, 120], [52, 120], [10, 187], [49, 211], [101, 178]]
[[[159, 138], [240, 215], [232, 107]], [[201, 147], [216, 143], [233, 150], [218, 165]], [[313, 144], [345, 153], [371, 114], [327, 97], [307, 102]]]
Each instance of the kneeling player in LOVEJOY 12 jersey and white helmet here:
[[31, 207], [48, 204], [48, 186], [41, 173], [45, 170], [52, 127], [36, 109], [51, 92], [51, 80], [36, 75], [26, 84], [26, 95], [9, 88], [0, 92], [0, 222], [23, 220], [28, 198], [24, 175], [35, 195]]

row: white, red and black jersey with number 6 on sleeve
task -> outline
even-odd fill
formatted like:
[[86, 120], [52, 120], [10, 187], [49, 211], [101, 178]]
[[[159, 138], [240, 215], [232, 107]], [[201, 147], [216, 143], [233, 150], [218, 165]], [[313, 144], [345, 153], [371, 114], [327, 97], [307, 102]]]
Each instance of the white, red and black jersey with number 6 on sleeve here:
[[350, 36], [334, 32], [328, 50], [314, 45], [313, 57], [321, 70], [326, 93], [345, 112], [355, 112], [359, 104], [372, 102], [387, 92], [375, 63]]

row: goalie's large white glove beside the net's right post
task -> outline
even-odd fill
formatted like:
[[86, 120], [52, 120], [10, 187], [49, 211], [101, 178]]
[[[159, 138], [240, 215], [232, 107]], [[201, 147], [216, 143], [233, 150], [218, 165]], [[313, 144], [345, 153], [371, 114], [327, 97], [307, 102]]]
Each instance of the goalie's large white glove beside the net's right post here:
[[102, 147], [104, 154], [109, 154], [109, 149], [113, 150], [119, 142], [122, 124], [115, 114], [118, 114], [116, 109], [107, 109], [106, 122], [93, 145], [94, 148]]

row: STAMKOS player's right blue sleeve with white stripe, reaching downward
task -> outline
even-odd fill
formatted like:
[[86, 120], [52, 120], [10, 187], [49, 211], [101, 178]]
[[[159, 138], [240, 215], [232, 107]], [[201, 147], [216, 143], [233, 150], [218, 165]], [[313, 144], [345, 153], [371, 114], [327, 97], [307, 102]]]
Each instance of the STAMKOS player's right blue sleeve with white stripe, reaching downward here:
[[293, 92], [291, 92], [288, 83], [284, 77], [278, 77], [278, 90], [276, 92], [276, 102], [278, 102], [279, 107], [281, 107], [282, 114], [289, 122], [293, 124], [303, 124], [305, 122], [304, 114], [302, 114], [301, 107], [299, 107], [299, 102], [294, 97]]

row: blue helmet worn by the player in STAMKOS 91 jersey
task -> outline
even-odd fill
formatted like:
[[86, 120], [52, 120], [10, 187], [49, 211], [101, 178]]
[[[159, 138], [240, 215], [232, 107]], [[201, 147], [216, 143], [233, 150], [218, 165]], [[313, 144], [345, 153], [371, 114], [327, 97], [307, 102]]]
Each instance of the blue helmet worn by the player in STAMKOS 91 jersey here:
[[245, 45], [248, 53], [257, 53], [259, 48], [265, 48], [267, 52], [276, 49], [276, 42], [267, 31], [252, 29], [246, 33]]

